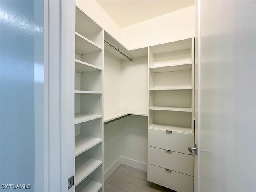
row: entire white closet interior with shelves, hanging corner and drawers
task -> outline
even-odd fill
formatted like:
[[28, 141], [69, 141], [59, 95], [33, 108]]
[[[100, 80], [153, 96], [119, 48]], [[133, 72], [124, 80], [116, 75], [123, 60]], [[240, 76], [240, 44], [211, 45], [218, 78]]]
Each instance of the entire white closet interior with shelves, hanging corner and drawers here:
[[74, 64], [76, 191], [127, 166], [193, 192], [194, 37], [128, 50], [78, 3]]

